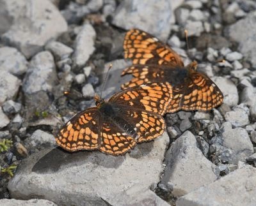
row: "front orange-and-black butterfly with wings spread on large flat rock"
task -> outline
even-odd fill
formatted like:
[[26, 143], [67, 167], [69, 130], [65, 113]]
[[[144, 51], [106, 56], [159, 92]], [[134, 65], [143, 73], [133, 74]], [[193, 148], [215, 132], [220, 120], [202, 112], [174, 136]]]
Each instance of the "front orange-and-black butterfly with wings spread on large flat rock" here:
[[114, 94], [109, 101], [95, 95], [96, 107], [74, 115], [56, 136], [63, 149], [96, 150], [120, 155], [136, 143], [164, 132], [164, 114], [172, 99], [168, 82], [147, 83]]

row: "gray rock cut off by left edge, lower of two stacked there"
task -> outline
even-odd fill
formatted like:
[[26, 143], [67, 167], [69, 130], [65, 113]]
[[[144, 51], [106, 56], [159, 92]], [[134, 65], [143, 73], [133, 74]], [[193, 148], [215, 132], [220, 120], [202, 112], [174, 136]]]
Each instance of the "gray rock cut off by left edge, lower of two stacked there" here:
[[6, 99], [12, 99], [19, 91], [21, 81], [11, 73], [0, 70], [0, 105]]

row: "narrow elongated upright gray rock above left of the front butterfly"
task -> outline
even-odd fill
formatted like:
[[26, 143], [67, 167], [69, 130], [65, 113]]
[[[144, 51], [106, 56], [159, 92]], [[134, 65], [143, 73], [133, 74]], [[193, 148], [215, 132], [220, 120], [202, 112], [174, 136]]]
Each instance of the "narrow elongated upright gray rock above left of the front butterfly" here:
[[96, 32], [92, 25], [84, 24], [79, 34], [76, 36], [74, 42], [74, 65], [81, 67], [86, 64], [90, 55], [93, 54], [95, 47], [94, 41], [96, 38]]

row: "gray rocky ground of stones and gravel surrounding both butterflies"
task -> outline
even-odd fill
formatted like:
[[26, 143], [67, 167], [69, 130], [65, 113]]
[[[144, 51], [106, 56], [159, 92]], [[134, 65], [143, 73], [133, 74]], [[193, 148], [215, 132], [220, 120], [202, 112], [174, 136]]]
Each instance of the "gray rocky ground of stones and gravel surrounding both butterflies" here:
[[[0, 205], [255, 205], [255, 1], [0, 5]], [[119, 91], [129, 78], [120, 77], [129, 64], [122, 41], [134, 27], [166, 41], [185, 64], [198, 61], [223, 104], [167, 114], [164, 135], [125, 156], [56, 148], [60, 126], [93, 104], [63, 91], [99, 92], [110, 63], [103, 96]]]

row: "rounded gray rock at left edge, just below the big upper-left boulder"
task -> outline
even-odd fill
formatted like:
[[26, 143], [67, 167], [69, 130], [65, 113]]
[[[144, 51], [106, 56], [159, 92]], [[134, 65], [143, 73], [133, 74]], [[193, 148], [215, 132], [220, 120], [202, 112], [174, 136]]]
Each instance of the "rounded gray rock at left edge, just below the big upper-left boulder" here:
[[28, 62], [16, 48], [0, 48], [0, 70], [8, 71], [13, 75], [22, 75], [28, 70]]

